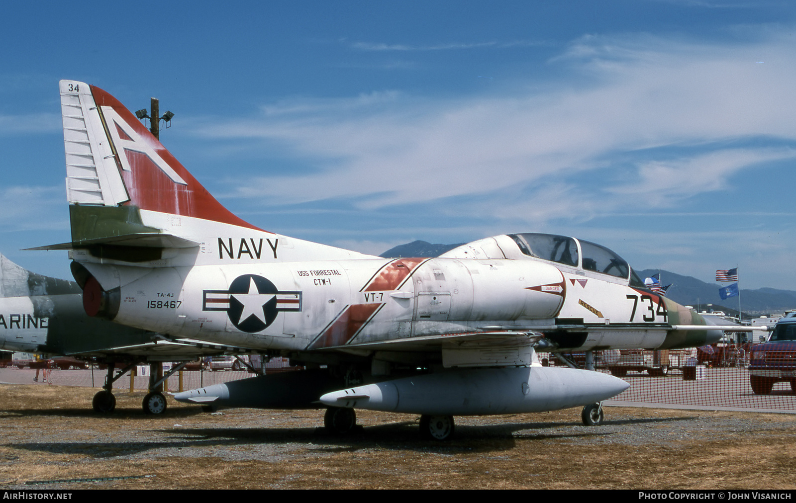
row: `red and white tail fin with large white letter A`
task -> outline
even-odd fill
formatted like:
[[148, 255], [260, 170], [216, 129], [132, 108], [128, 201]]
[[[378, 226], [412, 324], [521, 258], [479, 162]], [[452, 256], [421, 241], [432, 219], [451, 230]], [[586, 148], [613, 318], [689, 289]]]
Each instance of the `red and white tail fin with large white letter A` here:
[[164, 246], [155, 235], [172, 229], [145, 223], [142, 210], [261, 230], [224, 208], [107, 92], [61, 80], [60, 102], [72, 245], [123, 236], [127, 244], [141, 237], [139, 246]]

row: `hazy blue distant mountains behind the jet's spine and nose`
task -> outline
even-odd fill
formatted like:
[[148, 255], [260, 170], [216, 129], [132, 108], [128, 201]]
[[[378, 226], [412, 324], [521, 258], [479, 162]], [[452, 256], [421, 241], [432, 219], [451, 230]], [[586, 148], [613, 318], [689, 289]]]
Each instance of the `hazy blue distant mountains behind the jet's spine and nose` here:
[[[384, 258], [435, 257], [462, 244], [431, 244], [427, 241], [418, 240], [390, 248], [379, 256]], [[698, 304], [700, 310], [706, 310], [707, 304], [712, 304], [714, 310], [724, 310], [726, 313], [737, 311], [738, 309], [738, 298], [731, 297], [721, 300], [719, 296], [720, 285], [716, 283], [705, 283], [691, 276], [678, 275], [674, 272], [659, 269], [636, 271], [642, 280], [658, 272], [661, 273], [661, 284], [665, 286], [672, 283], [673, 285], [666, 293], [666, 297], [671, 298], [678, 304], [694, 306], [695, 308]], [[723, 286], [728, 284], [731, 283], [724, 283]], [[777, 290], [775, 288], [741, 290], [741, 309], [748, 314], [777, 313], [796, 309], [796, 291]]]

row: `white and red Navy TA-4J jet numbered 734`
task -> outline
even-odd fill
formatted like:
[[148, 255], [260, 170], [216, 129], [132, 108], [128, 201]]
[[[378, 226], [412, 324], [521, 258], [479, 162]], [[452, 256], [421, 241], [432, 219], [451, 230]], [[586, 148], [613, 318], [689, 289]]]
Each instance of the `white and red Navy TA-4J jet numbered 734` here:
[[[199, 404], [313, 407], [349, 431], [353, 409], [453, 415], [598, 404], [614, 376], [540, 365], [537, 349], [666, 349], [720, 329], [647, 290], [588, 241], [517, 233], [436, 258], [382, 259], [268, 232], [210, 193], [118, 100], [60, 81], [72, 275], [90, 316], [287, 356], [310, 370], [178, 394]], [[240, 381], [244, 382], [244, 381]]]

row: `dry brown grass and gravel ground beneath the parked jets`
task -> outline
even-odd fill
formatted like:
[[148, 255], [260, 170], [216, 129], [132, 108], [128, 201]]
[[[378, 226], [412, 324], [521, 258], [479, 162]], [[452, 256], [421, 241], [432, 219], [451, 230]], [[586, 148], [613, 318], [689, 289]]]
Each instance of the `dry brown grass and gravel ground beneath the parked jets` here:
[[[606, 407], [457, 417], [455, 439], [419, 439], [413, 415], [358, 411], [362, 428], [326, 435], [322, 411], [228, 409], [169, 400], [144, 415], [143, 393], [0, 384], [3, 489], [790, 489], [796, 417]], [[103, 482], [29, 481], [121, 478]]]

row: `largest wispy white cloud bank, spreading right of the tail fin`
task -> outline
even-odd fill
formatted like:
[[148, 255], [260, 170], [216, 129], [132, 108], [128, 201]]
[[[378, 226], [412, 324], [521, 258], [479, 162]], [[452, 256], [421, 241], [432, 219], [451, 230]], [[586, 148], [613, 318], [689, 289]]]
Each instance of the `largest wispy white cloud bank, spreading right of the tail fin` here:
[[[732, 45], [583, 37], [551, 63], [566, 77], [500, 96], [296, 98], [197, 133], [278, 142], [312, 164], [311, 175], [232, 180], [239, 197], [273, 205], [444, 201], [537, 226], [638, 201], [668, 209], [794, 158], [796, 49], [779, 33], [766, 37]], [[761, 55], [767, 64], [755, 64]]]

